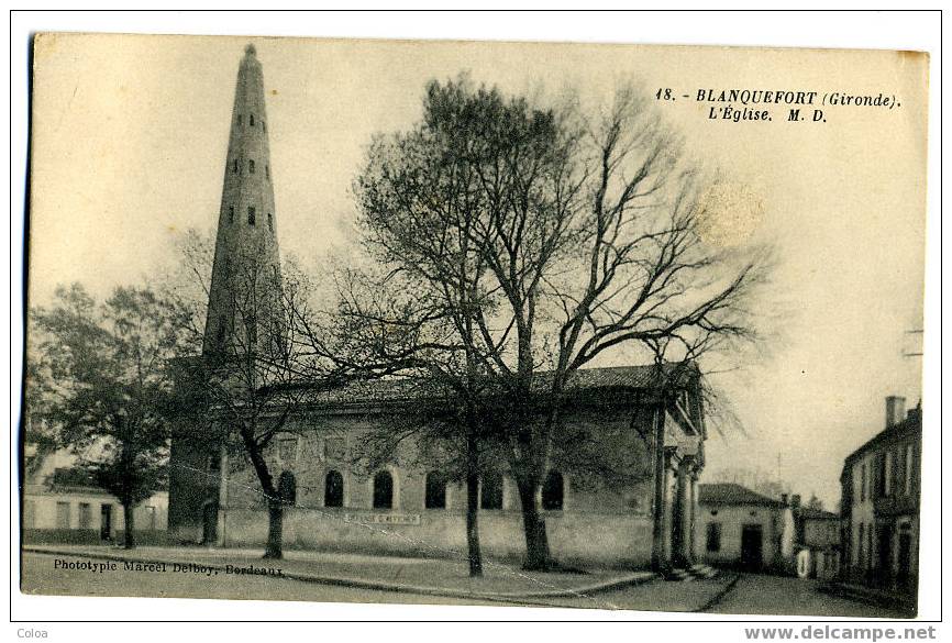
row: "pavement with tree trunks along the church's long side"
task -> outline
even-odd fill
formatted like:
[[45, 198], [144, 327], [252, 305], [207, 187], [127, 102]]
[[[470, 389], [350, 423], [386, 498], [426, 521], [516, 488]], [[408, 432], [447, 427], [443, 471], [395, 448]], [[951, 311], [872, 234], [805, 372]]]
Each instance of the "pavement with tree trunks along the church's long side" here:
[[[281, 561], [265, 561], [261, 550], [204, 547], [137, 547], [122, 550], [90, 545], [26, 545], [24, 552], [63, 557], [135, 563], [166, 563], [166, 572], [253, 573], [272, 578], [376, 589], [423, 596], [519, 600], [585, 598], [591, 594], [638, 585], [655, 578], [651, 572], [593, 569], [585, 574], [529, 573], [518, 566], [484, 561], [484, 577], [472, 579], [466, 561], [366, 556], [289, 550]], [[191, 564], [202, 566], [182, 567]], [[182, 572], [186, 569], [186, 572]], [[190, 572], [189, 572], [190, 570]], [[278, 572], [279, 570], [279, 572]]]

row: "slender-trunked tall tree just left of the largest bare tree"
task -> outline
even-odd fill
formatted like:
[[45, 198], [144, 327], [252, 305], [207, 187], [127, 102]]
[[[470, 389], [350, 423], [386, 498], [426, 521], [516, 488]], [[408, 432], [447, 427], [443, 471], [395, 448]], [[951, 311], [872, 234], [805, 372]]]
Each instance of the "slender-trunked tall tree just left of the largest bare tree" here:
[[[451, 115], [440, 108], [439, 88], [431, 89], [430, 115]], [[461, 144], [465, 134], [444, 125], [374, 141], [355, 192], [366, 247], [386, 268], [343, 270], [333, 321], [319, 329], [300, 322], [314, 354], [347, 372], [423, 383], [414, 412], [399, 429], [388, 422], [370, 436], [364, 455], [392, 455], [410, 436], [423, 451], [449, 454], [451, 477], [466, 483], [469, 574], [480, 576], [479, 476], [495, 425], [486, 403], [494, 365], [474, 313], [492, 308], [497, 293], [484, 282], [487, 267], [471, 233], [484, 212], [478, 177], [453, 163]]]

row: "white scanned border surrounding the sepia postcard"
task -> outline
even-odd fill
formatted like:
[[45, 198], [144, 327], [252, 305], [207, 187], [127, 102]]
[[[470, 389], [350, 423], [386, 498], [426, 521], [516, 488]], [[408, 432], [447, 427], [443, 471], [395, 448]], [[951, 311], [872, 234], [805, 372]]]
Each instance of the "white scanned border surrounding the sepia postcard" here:
[[[111, 0], [107, 5], [122, 7]], [[385, 5], [383, 2], [376, 3]], [[424, 4], [441, 7], [435, 1]], [[501, 4], [501, 3], [495, 3]], [[234, 5], [234, 4], [232, 4]], [[552, 7], [550, 3], [547, 7]], [[399, 37], [399, 38], [469, 38], [469, 40], [518, 40], [518, 41], [583, 41], [611, 43], [663, 43], [663, 44], [715, 44], [715, 45], [771, 45], [799, 47], [846, 47], [846, 48], [889, 48], [928, 51], [931, 59], [930, 87], [930, 140], [929, 140], [929, 221], [927, 247], [927, 299], [926, 299], [926, 341], [923, 367], [926, 383], [923, 398], [926, 404], [926, 431], [937, 435], [939, 426], [940, 395], [940, 254], [941, 234], [940, 212], [940, 138], [939, 88], [941, 79], [941, 43], [939, 15], [934, 13], [27, 13], [18, 12], [11, 16], [12, 66], [12, 123], [11, 123], [11, 425], [15, 428], [19, 407], [20, 346], [22, 345], [22, 274], [23, 259], [23, 212], [26, 115], [27, 115], [27, 58], [29, 37], [35, 31], [110, 31], [129, 33], [189, 33], [189, 34], [258, 34], [292, 36], [337, 36], [337, 37]], [[11, 431], [11, 445], [15, 444], [15, 430]], [[940, 488], [938, 443], [927, 439], [927, 455], [923, 458], [923, 489], [936, 491]], [[8, 454], [9, 455], [9, 454]], [[3, 458], [4, 466], [11, 459]], [[10, 469], [4, 469], [11, 479]], [[11, 487], [10, 501], [15, 503], [16, 489]], [[14, 505], [15, 506], [15, 505]], [[921, 586], [925, 589], [920, 601], [920, 614], [926, 618], [939, 616], [939, 587], [941, 569], [939, 562], [939, 499], [938, 494], [927, 492], [922, 498], [921, 517]], [[13, 534], [14, 543], [16, 534]], [[4, 557], [5, 559], [5, 557]], [[5, 567], [5, 564], [4, 564]], [[5, 569], [4, 569], [5, 570]], [[15, 574], [15, 569], [14, 569]], [[55, 614], [58, 619], [573, 619], [573, 620], [619, 620], [658, 619], [690, 620], [691, 614], [658, 614], [638, 612], [596, 612], [588, 610], [529, 610], [505, 608], [427, 608], [406, 606], [356, 606], [356, 605], [313, 605], [246, 601], [208, 600], [148, 600], [148, 599], [57, 599], [46, 597], [24, 597], [19, 595], [14, 585], [15, 616], [20, 619], [43, 619]], [[698, 618], [711, 619], [710, 616]], [[732, 617], [733, 618], [733, 617]], [[822, 619], [806, 619], [820, 621]], [[901, 624], [897, 625], [901, 627]], [[145, 641], [167, 640], [176, 634], [186, 640], [219, 638], [239, 634], [241, 640], [274, 640], [283, 636], [273, 625], [247, 624], [228, 627], [225, 624], [179, 624], [179, 625], [102, 625], [102, 624], [51, 624], [48, 627], [26, 625], [46, 629], [51, 638], [63, 640], [101, 639], [121, 635], [117, 630], [126, 631]], [[496, 625], [498, 628], [498, 625]], [[561, 625], [557, 631], [546, 630], [521, 632], [517, 628], [529, 625], [507, 625], [500, 630], [503, 636], [556, 635], [558, 639], [577, 639], [590, 635], [579, 625]], [[11, 635], [15, 627], [9, 625]], [[308, 627], [305, 627], [308, 628]], [[671, 635], [669, 625], [647, 624], [640, 627], [636, 634], [630, 630], [619, 630], [619, 635]], [[701, 629], [704, 628], [704, 630]], [[222, 631], [224, 629], [224, 631]], [[486, 630], [489, 628], [487, 627]], [[495, 629], [495, 628], [494, 628]], [[307, 631], [308, 636], [348, 636], [354, 635], [350, 625], [322, 628]], [[377, 635], [424, 636], [434, 640], [452, 636], [454, 641], [481, 641], [492, 632], [484, 628], [468, 628], [446, 624], [443, 627], [379, 627]], [[364, 632], [364, 634], [369, 634]], [[599, 635], [607, 632], [599, 632]], [[742, 625], [710, 625], [695, 623], [693, 627], [678, 628], [676, 636], [704, 636], [706, 640], [742, 640]], [[159, 639], [160, 636], [160, 639]]]

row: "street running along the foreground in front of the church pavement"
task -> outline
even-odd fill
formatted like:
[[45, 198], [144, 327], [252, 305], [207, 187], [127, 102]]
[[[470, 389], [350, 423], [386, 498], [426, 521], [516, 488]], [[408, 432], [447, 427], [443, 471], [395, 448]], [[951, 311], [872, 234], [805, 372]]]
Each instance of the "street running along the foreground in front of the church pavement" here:
[[[368, 590], [270, 576], [181, 574], [140, 575], [129, 583], [122, 573], [91, 573], [54, 568], [55, 556], [25, 553], [22, 591], [60, 596], [133, 596], [320, 602], [379, 602], [417, 605], [506, 606], [516, 601], [478, 600]], [[690, 583], [652, 581], [575, 598], [529, 599], [531, 607], [596, 608], [608, 610], [706, 611], [722, 614], [809, 614], [865, 618], [900, 618], [884, 610], [819, 591], [818, 583], [799, 578], [722, 574]], [[706, 609], [707, 608], [707, 609]]]

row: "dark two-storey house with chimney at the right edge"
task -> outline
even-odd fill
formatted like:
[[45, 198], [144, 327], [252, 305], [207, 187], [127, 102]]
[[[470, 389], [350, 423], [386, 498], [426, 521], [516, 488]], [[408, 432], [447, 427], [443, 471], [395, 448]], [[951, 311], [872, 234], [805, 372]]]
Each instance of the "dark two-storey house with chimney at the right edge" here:
[[886, 425], [846, 456], [842, 486], [843, 577], [915, 595], [919, 574], [921, 404], [886, 398]]

